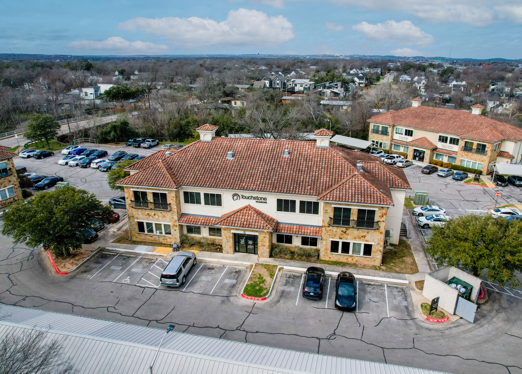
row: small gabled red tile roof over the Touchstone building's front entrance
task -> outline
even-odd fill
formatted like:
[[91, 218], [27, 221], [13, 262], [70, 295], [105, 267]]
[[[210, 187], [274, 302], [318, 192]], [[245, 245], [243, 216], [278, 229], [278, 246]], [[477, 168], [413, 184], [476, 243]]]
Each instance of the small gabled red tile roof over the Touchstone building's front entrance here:
[[273, 231], [277, 220], [250, 204], [232, 212], [223, 214], [215, 226], [253, 228], [254, 230]]

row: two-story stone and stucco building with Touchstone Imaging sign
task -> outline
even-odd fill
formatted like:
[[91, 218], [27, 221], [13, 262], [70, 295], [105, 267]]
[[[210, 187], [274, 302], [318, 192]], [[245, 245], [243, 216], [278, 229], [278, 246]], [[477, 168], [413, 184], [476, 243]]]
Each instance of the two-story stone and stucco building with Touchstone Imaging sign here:
[[269, 257], [272, 244], [315, 248], [321, 258], [378, 265], [398, 243], [404, 172], [375, 156], [315, 141], [215, 137], [159, 151], [120, 180], [135, 240], [208, 240], [223, 252]]

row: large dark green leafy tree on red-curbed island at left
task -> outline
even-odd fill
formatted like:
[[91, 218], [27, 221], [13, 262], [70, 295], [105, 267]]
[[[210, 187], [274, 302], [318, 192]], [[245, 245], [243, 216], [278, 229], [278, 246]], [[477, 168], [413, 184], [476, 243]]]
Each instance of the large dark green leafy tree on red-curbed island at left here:
[[111, 209], [85, 190], [63, 187], [17, 201], [4, 215], [2, 234], [29, 247], [42, 245], [57, 257], [81, 249], [93, 220], [109, 222]]

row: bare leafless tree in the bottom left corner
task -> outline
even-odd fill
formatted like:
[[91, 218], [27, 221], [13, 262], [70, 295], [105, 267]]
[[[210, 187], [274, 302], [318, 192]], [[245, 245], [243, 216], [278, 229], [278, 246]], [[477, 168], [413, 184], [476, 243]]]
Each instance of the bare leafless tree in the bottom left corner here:
[[72, 359], [64, 354], [65, 340], [48, 332], [14, 328], [0, 342], [0, 374], [72, 374]]

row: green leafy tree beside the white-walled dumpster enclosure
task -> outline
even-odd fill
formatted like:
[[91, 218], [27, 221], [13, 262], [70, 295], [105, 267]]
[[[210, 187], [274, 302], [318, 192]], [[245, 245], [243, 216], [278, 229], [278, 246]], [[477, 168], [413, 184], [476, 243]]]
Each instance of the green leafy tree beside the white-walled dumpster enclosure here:
[[500, 285], [519, 283], [522, 271], [522, 222], [468, 214], [435, 226], [426, 252], [437, 264], [461, 266], [475, 276], [488, 269], [488, 279]]

